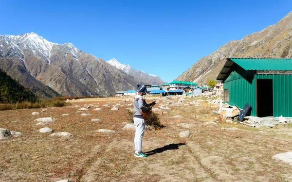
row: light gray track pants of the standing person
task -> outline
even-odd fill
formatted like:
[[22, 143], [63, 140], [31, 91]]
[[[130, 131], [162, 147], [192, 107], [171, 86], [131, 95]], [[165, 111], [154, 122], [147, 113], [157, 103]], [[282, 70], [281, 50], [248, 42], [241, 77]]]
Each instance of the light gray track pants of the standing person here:
[[142, 151], [142, 138], [144, 136], [145, 131], [145, 120], [141, 118], [134, 117], [135, 124], [135, 149], [136, 152]]

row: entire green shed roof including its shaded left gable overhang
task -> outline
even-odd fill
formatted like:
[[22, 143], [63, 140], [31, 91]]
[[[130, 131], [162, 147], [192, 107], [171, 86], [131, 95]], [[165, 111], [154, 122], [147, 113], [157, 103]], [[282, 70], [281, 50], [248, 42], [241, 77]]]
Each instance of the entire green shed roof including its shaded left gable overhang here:
[[234, 63], [245, 70], [292, 70], [292, 59], [286, 58], [227, 58], [217, 80], [225, 80]]

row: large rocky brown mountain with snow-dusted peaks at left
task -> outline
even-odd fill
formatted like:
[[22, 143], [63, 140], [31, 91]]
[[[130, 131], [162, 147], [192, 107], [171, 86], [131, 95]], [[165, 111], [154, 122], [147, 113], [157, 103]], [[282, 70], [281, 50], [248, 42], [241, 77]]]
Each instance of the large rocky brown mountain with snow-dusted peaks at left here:
[[5, 58], [0, 68], [16, 80], [23, 79], [24, 86], [34, 87], [40, 95], [109, 96], [116, 91], [136, 89], [139, 83], [133, 76], [71, 43], [52, 43], [36, 33], [0, 34], [0, 56]]

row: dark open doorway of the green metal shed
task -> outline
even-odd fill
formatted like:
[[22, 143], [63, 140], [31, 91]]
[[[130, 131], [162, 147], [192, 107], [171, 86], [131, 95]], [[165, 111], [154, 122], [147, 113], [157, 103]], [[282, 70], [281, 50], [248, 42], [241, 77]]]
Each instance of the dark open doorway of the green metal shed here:
[[256, 115], [273, 116], [273, 80], [256, 80]]

